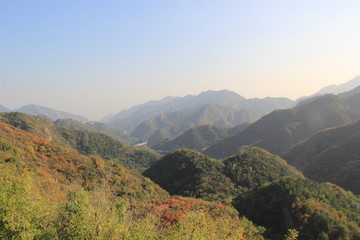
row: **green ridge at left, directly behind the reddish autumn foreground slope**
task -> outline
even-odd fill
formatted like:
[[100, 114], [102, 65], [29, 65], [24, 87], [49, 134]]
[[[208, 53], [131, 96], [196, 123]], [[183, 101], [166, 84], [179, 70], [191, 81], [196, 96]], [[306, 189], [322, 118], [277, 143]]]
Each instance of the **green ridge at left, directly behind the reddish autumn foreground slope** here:
[[149, 148], [130, 147], [98, 132], [58, 127], [37, 116], [24, 113], [0, 113], [0, 120], [62, 146], [72, 147], [81, 154], [97, 155], [139, 171], [148, 168], [160, 158], [159, 154]]

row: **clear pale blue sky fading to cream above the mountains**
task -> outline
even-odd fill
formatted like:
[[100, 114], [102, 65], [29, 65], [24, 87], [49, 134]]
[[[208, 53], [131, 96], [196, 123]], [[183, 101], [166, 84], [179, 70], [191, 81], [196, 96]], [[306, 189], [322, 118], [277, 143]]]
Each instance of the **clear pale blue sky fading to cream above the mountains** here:
[[360, 1], [0, 1], [0, 104], [93, 120], [227, 89], [296, 99], [360, 75]]

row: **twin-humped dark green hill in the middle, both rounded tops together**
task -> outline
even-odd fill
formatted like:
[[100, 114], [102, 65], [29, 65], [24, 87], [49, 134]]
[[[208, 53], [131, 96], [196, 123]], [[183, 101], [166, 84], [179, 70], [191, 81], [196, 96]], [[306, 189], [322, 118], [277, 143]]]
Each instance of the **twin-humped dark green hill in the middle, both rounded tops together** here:
[[170, 194], [225, 202], [240, 192], [283, 176], [302, 177], [284, 160], [259, 148], [247, 149], [225, 160], [179, 149], [163, 157], [144, 175]]

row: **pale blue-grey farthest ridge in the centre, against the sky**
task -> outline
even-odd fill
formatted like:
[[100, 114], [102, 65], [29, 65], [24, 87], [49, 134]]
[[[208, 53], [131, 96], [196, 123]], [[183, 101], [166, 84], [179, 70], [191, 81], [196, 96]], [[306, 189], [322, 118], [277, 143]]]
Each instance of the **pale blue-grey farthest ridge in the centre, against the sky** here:
[[294, 102], [287, 98], [246, 99], [228, 90], [207, 91], [196, 96], [166, 97], [159, 101], [150, 101], [115, 114], [107, 123], [132, 132], [143, 121], [156, 118], [160, 114], [197, 111], [207, 104], [216, 104], [235, 111], [250, 109], [256, 112], [256, 115], [263, 116], [274, 109], [291, 107]]

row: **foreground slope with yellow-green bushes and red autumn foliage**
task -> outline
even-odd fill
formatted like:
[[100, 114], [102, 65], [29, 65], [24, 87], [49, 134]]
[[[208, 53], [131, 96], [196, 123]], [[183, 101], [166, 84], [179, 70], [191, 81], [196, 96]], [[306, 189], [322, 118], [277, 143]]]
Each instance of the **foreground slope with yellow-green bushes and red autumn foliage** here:
[[262, 239], [233, 209], [0, 122], [1, 239]]

